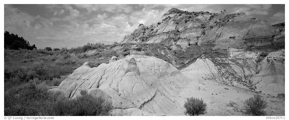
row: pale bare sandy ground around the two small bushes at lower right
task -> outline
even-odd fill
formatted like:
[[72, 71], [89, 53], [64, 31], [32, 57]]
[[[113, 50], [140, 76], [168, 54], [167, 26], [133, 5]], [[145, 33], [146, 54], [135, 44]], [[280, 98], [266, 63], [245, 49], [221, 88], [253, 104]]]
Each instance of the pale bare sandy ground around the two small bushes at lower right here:
[[[189, 74], [185, 75], [192, 78]], [[192, 80], [181, 88], [181, 91], [179, 92], [179, 103], [184, 104], [188, 97], [202, 98], [207, 104], [207, 113], [201, 116], [245, 116], [246, 114], [242, 112], [245, 111], [245, 100], [257, 94], [250, 90], [222, 85], [209, 80], [194, 79], [195, 80]], [[225, 88], [228, 88], [228, 90]], [[285, 116], [284, 99], [277, 98], [277, 95], [259, 94], [267, 101], [267, 108], [264, 109], [266, 111], [265, 115]], [[233, 101], [236, 104], [231, 106], [229, 105], [229, 101]]]

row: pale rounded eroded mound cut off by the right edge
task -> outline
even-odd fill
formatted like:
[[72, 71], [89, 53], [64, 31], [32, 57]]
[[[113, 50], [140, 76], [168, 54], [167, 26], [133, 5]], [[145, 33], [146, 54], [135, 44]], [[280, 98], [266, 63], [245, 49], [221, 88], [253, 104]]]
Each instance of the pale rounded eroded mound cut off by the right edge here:
[[285, 92], [285, 50], [269, 53], [257, 71], [251, 78], [257, 90], [273, 95]]

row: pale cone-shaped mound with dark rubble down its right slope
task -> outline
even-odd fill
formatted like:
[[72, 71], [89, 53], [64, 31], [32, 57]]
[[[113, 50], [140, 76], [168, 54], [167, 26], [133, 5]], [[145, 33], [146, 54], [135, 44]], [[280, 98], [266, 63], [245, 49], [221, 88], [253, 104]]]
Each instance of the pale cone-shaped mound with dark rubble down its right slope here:
[[254, 74], [254, 70], [246, 65], [223, 53], [209, 53], [181, 71], [194, 78], [250, 89], [247, 79]]

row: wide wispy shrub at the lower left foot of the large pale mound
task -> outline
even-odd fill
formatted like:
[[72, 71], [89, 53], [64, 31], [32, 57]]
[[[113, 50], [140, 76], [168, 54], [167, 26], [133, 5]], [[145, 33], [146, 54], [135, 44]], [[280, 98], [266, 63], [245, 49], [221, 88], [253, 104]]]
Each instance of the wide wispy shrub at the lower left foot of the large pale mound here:
[[105, 116], [109, 115], [111, 105], [102, 97], [83, 93], [75, 99], [59, 98], [53, 105], [56, 116]]

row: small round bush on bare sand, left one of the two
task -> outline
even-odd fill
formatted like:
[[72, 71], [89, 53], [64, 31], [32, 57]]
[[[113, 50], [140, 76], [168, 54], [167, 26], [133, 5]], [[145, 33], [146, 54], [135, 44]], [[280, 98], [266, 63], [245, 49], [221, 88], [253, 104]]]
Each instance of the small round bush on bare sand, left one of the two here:
[[188, 113], [190, 116], [195, 116], [199, 114], [204, 114], [207, 109], [207, 104], [203, 102], [202, 98], [200, 100], [198, 98], [191, 97], [187, 98], [184, 107], [186, 109], [186, 113]]

